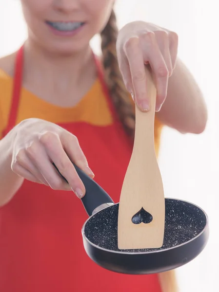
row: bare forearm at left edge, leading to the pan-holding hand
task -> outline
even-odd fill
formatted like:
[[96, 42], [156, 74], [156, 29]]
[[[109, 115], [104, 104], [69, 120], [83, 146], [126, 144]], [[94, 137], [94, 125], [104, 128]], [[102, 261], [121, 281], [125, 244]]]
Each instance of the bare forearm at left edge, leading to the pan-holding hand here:
[[11, 169], [10, 152], [10, 139], [5, 137], [0, 140], [0, 206], [10, 201], [23, 183], [23, 178]]

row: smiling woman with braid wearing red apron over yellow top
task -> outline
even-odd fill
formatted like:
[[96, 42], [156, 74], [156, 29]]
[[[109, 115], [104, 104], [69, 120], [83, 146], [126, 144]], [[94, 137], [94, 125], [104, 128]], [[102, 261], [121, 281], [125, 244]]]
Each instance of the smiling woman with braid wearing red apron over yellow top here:
[[[117, 274], [88, 258], [85, 189], [71, 161], [119, 201], [135, 127], [129, 92], [150, 110], [147, 63], [158, 91], [157, 154], [162, 125], [204, 130], [205, 103], [177, 58], [176, 33], [137, 21], [118, 34], [114, 0], [21, 3], [28, 38], [0, 59], [0, 291], [173, 292], [171, 273]], [[89, 46], [98, 33], [101, 61]]]

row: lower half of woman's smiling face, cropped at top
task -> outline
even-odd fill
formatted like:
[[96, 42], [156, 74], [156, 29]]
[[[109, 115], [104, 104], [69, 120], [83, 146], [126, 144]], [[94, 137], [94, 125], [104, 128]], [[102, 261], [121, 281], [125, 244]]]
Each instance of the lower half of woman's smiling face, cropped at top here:
[[83, 50], [100, 33], [115, 0], [21, 0], [29, 37], [50, 52]]

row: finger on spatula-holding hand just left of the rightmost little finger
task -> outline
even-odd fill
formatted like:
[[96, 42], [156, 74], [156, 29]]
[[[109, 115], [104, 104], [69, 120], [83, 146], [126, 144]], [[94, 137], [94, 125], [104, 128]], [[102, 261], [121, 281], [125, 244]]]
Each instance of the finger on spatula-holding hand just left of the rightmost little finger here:
[[170, 55], [170, 44], [169, 44], [169, 35], [166, 31], [158, 31], [155, 33], [159, 50], [163, 56], [163, 59], [166, 63], [168, 69], [169, 77], [173, 73], [172, 59]]

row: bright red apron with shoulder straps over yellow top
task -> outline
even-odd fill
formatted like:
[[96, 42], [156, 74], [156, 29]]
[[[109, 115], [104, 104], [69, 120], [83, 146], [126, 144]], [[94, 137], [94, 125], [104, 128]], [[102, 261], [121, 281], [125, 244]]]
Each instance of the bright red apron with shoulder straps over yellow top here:
[[[13, 98], [6, 134], [16, 125], [22, 86], [23, 48], [17, 54]], [[86, 123], [60, 124], [74, 133], [95, 180], [115, 202], [131, 156], [125, 135], [103, 82], [98, 75], [114, 123], [96, 127]], [[107, 271], [85, 253], [81, 227], [87, 214], [69, 191], [54, 191], [24, 180], [14, 198], [0, 208], [1, 292], [161, 292], [158, 276], [125, 275]]]

